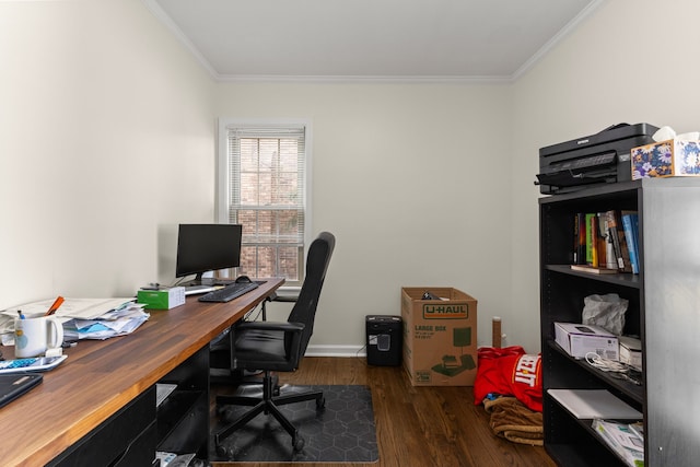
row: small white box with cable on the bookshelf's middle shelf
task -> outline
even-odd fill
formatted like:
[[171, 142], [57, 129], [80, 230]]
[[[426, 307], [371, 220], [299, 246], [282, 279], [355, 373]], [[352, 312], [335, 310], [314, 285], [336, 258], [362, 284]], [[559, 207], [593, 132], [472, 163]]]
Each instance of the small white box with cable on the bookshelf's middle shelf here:
[[571, 357], [582, 359], [593, 352], [607, 360], [619, 359], [618, 339], [598, 326], [555, 323], [555, 340]]

